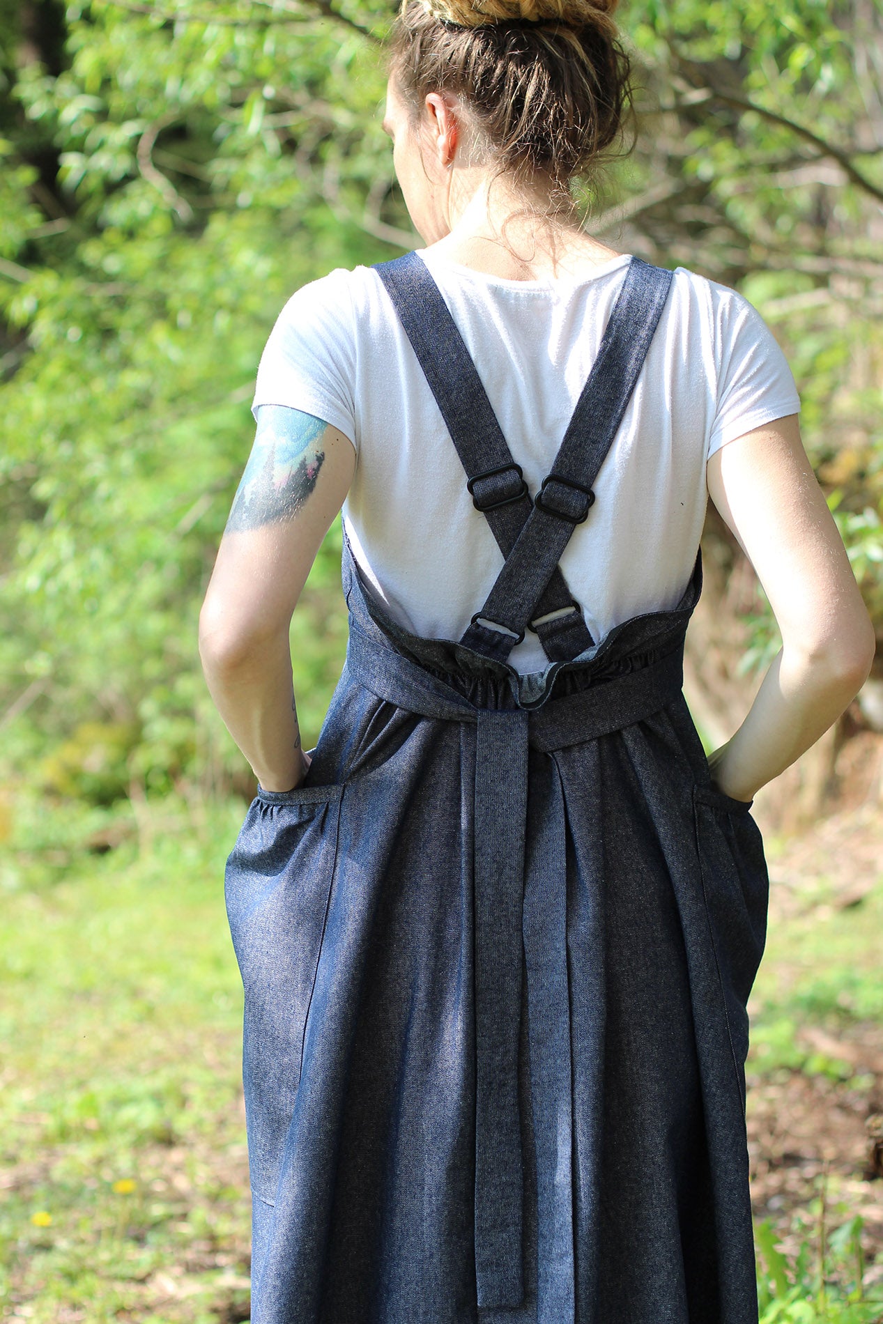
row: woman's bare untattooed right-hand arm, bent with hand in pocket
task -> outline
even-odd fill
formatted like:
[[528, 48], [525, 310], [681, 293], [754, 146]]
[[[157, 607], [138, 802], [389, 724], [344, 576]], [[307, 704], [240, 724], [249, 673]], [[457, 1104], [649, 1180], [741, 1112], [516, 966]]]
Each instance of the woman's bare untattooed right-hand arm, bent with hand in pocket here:
[[715, 781], [751, 800], [809, 749], [867, 679], [874, 629], [813, 474], [797, 414], [721, 446], [708, 491], [769, 598], [782, 647], [736, 733], [710, 757]]

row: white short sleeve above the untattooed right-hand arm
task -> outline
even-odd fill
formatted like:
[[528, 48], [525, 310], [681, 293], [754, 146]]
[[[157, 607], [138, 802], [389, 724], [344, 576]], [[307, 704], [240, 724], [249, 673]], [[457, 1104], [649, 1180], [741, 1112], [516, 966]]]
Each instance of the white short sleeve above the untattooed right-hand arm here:
[[707, 457], [774, 418], [800, 412], [800, 396], [776, 338], [736, 290], [712, 283], [718, 399]]

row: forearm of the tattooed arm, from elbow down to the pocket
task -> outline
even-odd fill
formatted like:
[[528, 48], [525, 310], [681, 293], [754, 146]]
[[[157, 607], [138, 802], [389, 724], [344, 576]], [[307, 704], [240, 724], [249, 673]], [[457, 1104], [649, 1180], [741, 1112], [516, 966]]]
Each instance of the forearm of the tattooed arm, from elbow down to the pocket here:
[[306, 771], [286, 634], [237, 650], [203, 647], [212, 699], [265, 790], [291, 790]]

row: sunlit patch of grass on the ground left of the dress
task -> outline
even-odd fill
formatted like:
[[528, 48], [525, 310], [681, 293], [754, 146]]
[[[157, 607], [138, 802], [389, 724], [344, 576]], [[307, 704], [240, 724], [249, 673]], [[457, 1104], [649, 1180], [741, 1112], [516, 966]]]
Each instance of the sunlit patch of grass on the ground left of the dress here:
[[[242, 817], [4, 895], [0, 1315], [248, 1319], [241, 990], [222, 899]], [[9, 875], [7, 875], [8, 878]]]

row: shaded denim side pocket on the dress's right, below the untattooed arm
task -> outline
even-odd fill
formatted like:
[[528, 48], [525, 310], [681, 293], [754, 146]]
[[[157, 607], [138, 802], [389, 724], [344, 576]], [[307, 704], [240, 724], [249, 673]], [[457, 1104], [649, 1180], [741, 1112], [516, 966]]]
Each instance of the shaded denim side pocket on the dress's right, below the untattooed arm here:
[[736, 1072], [745, 1095], [747, 1002], [764, 955], [769, 874], [752, 801], [712, 785], [692, 794], [696, 845], [708, 924], [727, 1010]]

